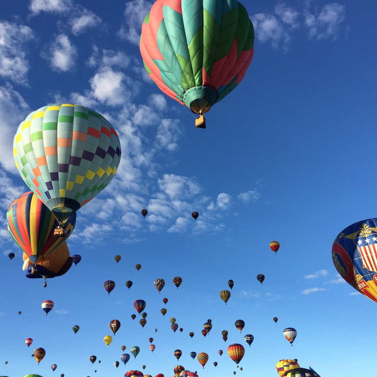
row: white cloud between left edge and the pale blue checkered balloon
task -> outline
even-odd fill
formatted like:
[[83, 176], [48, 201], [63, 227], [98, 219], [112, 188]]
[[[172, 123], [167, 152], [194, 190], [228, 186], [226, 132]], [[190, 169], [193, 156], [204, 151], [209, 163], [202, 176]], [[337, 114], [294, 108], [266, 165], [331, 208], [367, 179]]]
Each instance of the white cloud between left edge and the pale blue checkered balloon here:
[[18, 125], [29, 112], [28, 104], [10, 84], [0, 86], [0, 119], [2, 119], [0, 165], [12, 173], [17, 172], [13, 159], [13, 138]]

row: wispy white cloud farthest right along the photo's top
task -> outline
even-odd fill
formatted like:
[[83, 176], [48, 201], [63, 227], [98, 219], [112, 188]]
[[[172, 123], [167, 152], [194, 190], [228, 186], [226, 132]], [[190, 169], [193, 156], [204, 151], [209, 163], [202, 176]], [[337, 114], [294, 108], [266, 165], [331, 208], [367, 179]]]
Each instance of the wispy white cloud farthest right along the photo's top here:
[[325, 5], [318, 17], [308, 13], [305, 18], [305, 25], [309, 29], [309, 38], [336, 40], [339, 35], [340, 23], [344, 19], [345, 6], [339, 3]]

